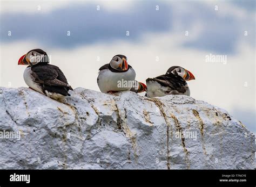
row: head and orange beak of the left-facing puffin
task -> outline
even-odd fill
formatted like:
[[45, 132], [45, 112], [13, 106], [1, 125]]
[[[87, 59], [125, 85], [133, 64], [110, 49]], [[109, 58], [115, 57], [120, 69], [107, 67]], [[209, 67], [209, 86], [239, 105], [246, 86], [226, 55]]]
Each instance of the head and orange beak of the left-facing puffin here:
[[39, 62], [49, 63], [49, 57], [42, 49], [32, 49], [19, 58], [18, 65], [35, 65]]

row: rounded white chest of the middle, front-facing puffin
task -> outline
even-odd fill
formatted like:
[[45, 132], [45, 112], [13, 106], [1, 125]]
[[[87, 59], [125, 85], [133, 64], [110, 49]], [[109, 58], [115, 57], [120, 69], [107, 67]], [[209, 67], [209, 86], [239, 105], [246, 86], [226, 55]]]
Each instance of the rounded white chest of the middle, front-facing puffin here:
[[[129, 82], [135, 80], [136, 73], [132, 68], [122, 73], [112, 72], [109, 69], [104, 69], [99, 72], [98, 86], [100, 91], [107, 93], [108, 91], [124, 91], [130, 90], [131, 85], [118, 84], [120, 82]], [[121, 86], [120, 86], [121, 85]]]

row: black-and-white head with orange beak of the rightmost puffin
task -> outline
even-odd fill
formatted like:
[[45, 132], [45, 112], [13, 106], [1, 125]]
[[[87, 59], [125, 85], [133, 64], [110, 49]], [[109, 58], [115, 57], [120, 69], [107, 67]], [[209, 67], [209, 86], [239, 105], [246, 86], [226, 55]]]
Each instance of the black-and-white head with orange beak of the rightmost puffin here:
[[194, 75], [190, 71], [179, 66], [172, 66], [169, 68], [165, 75], [170, 76], [170, 74], [181, 76], [185, 81], [195, 79]]

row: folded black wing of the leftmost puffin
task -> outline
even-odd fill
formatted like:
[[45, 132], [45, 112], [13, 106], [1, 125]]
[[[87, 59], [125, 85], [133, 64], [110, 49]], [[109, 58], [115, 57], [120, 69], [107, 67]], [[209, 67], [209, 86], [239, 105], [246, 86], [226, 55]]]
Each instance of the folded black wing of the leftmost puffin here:
[[35, 82], [39, 83], [44, 90], [49, 92], [60, 93], [64, 96], [70, 95], [69, 90], [73, 90], [62, 70], [57, 66], [47, 64], [44, 66], [32, 66], [31, 67]]

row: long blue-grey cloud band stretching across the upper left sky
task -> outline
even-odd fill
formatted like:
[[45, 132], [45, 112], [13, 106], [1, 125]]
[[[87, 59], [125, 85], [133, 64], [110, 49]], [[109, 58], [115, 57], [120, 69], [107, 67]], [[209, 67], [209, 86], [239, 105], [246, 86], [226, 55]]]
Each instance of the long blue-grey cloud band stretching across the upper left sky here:
[[[159, 4], [159, 3], [158, 3]], [[116, 39], [136, 40], [145, 32], [170, 30], [170, 8], [156, 4], [138, 3], [134, 9], [123, 11], [96, 10], [96, 5], [71, 6], [48, 14], [19, 13], [1, 16], [1, 40], [4, 42], [34, 39], [56, 47], [89, 45]], [[8, 31], [12, 37], [8, 37]], [[67, 31], [71, 32], [67, 37]], [[130, 32], [129, 38], [126, 31]]]

